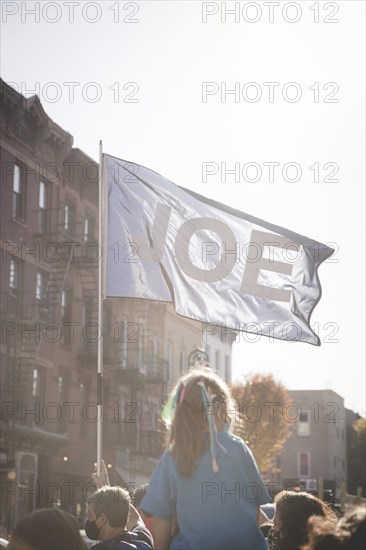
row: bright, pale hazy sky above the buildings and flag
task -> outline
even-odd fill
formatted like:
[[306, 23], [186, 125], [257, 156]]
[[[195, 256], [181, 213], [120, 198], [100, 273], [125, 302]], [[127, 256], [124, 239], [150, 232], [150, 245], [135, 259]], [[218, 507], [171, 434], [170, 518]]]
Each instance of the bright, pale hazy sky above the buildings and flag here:
[[[76, 147], [98, 159], [102, 139], [109, 154], [333, 243], [311, 320], [322, 346], [242, 333], [234, 375], [271, 372], [289, 389], [330, 388], [365, 414], [364, 2], [1, 8], [2, 78], [36, 91]], [[270, 162], [279, 163], [273, 178]], [[216, 173], [203, 177], [204, 163]], [[235, 163], [240, 173], [225, 181]]]

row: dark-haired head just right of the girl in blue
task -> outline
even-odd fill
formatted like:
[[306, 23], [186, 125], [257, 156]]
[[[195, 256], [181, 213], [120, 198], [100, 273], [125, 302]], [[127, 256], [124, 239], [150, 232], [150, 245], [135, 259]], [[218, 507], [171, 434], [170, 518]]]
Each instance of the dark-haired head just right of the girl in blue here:
[[273, 529], [268, 535], [271, 550], [297, 550], [307, 542], [307, 521], [322, 516], [336, 521], [332, 509], [319, 498], [303, 491], [281, 491], [275, 497]]

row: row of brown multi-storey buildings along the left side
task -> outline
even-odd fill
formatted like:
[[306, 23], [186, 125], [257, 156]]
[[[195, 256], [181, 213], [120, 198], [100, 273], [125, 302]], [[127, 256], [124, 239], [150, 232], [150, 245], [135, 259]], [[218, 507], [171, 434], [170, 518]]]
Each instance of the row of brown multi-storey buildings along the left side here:
[[[104, 300], [98, 324], [98, 165], [1, 81], [1, 530], [35, 508], [85, 515], [96, 456], [103, 339], [103, 458], [112, 481], [147, 482], [161, 408], [202, 325], [169, 304]], [[231, 343], [217, 369], [230, 382]], [[220, 344], [221, 345], [221, 344]], [[229, 356], [227, 359], [226, 356]], [[223, 356], [224, 357], [224, 354]], [[223, 367], [225, 365], [225, 367]]]

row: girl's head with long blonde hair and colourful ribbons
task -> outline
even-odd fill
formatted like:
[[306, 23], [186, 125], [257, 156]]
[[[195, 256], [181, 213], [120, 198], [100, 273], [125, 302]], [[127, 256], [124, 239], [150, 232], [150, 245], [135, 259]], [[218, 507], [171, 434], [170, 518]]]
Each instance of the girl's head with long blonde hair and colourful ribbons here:
[[218, 430], [230, 424], [235, 404], [228, 386], [209, 368], [192, 369], [183, 375], [169, 402], [173, 403], [174, 410], [167, 449], [179, 472], [190, 476], [205, 450], [202, 432], [208, 431], [209, 421], [214, 422]]

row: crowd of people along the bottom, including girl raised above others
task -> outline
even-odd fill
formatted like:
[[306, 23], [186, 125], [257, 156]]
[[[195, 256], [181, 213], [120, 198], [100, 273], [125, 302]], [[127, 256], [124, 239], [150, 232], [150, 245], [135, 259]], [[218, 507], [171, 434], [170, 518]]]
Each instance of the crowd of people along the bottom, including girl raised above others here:
[[[166, 451], [148, 486], [129, 494], [94, 474], [85, 532], [93, 550], [364, 550], [366, 513], [343, 517], [304, 491], [270, 501], [246, 443], [231, 433], [235, 406], [211, 370], [178, 381], [163, 409]], [[97, 542], [98, 541], [98, 542]], [[33, 512], [15, 527], [8, 550], [85, 550], [76, 519], [61, 509]]]

